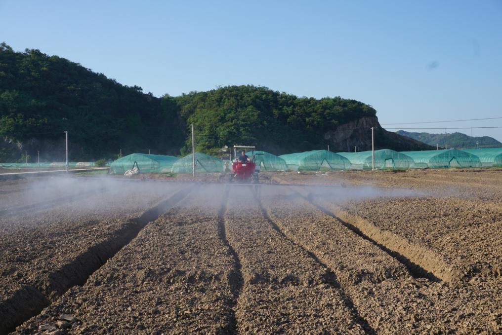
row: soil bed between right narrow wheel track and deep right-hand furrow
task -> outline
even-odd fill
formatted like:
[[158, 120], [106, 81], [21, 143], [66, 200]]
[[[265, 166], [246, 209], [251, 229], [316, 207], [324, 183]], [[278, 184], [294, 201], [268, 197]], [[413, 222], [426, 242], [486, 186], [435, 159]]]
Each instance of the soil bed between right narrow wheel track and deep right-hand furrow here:
[[[421, 304], [424, 295], [418, 287], [429, 282], [412, 278], [403, 264], [378, 246], [291, 190], [282, 195], [267, 192], [262, 201], [288, 238], [333, 269], [354, 308], [376, 333], [423, 331], [430, 323], [440, 323], [435, 314], [422, 316], [427, 307]], [[396, 308], [394, 296], [400, 294], [406, 299], [394, 311], [390, 306]]]

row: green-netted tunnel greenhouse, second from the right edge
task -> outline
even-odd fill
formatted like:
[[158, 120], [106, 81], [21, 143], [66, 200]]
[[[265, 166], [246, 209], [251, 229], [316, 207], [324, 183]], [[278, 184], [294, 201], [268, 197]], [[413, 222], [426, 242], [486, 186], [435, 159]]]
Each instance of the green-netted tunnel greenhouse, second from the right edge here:
[[403, 151], [403, 153], [412, 157], [417, 167], [438, 169], [479, 168], [481, 166], [481, 161], [477, 156], [463, 150]]

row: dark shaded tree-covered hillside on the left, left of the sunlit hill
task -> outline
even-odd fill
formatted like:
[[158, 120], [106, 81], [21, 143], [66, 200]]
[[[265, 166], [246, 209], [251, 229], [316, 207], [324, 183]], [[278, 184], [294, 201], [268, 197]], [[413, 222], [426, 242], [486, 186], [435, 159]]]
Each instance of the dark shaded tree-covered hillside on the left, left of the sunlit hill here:
[[74, 159], [111, 156], [120, 148], [177, 153], [184, 141], [177, 111], [169, 97], [161, 100], [39, 50], [14, 52], [0, 44], [5, 159], [14, 158], [20, 146], [40, 149], [48, 159], [64, 157], [65, 130]]

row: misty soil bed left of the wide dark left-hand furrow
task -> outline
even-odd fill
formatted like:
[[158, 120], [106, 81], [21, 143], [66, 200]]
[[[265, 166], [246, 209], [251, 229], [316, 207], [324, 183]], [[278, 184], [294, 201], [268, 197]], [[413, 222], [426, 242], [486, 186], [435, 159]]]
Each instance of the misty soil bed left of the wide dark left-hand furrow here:
[[[82, 284], [143, 227], [142, 215], [182, 186], [110, 185], [87, 181], [34, 181], [12, 193], [0, 217], [0, 332], [38, 313], [69, 287]], [[84, 184], [82, 184], [84, 183]], [[9, 183], [10, 184], [10, 183]], [[68, 188], [65, 188], [68, 187]], [[53, 191], [53, 192], [51, 192]], [[39, 195], [46, 197], [39, 197]], [[137, 194], [141, 199], [131, 197]], [[83, 196], [74, 197], [76, 194]], [[66, 196], [66, 197], [64, 197]], [[56, 203], [52, 199], [57, 198]]]

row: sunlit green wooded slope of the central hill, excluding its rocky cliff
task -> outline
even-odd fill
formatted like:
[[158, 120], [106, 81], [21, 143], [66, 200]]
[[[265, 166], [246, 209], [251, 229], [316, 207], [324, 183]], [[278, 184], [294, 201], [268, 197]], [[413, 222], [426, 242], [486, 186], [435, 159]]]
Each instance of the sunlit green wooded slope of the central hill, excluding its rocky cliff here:
[[[177, 101], [181, 117], [194, 124], [197, 149], [206, 152], [231, 144], [257, 145], [274, 153], [326, 148], [326, 132], [376, 113], [355, 100], [299, 98], [255, 86], [184, 94]], [[189, 152], [190, 145], [187, 138], [182, 152]]]

